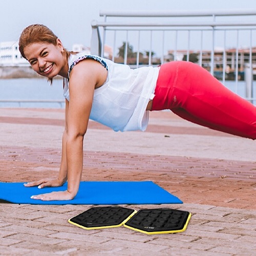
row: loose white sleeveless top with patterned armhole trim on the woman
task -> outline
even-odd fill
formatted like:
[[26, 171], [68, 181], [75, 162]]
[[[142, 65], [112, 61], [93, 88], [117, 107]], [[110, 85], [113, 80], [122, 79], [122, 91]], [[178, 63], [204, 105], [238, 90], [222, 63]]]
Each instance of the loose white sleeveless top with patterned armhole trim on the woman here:
[[[148, 101], [154, 98], [159, 69], [131, 69], [95, 55], [78, 53], [69, 58], [69, 75], [81, 60], [91, 58], [108, 70], [104, 84], [95, 89], [90, 119], [114, 131], [145, 131], [148, 124]], [[69, 78], [64, 79], [63, 95], [69, 101]]]

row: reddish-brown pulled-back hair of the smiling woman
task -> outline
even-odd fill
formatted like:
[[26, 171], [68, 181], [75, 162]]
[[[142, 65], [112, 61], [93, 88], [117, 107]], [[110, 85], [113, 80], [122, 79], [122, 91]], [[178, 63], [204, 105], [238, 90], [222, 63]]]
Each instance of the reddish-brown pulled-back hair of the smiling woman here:
[[[47, 42], [48, 44], [57, 45], [57, 36], [45, 25], [34, 24], [30, 25], [22, 31], [19, 37], [19, 52], [24, 58], [24, 49], [26, 46], [33, 44], [34, 42]], [[67, 59], [70, 56], [70, 52], [64, 48]]]

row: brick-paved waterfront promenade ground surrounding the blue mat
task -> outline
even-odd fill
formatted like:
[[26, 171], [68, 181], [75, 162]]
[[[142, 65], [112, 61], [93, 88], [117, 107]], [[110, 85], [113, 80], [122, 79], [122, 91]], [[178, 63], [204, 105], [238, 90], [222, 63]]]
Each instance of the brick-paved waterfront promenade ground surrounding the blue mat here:
[[[57, 176], [64, 111], [0, 109], [0, 181]], [[82, 180], [152, 180], [184, 203], [125, 205], [190, 211], [187, 230], [148, 236], [124, 227], [83, 230], [68, 219], [91, 205], [0, 204], [1, 255], [255, 255], [256, 143], [171, 112], [146, 132], [90, 122]]]

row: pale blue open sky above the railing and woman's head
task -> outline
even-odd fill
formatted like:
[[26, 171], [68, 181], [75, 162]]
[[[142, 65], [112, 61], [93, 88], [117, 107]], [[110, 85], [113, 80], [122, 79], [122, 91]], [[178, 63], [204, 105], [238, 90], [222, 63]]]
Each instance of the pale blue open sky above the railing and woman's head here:
[[17, 41], [22, 30], [35, 23], [48, 26], [65, 47], [90, 46], [91, 22], [100, 10], [243, 10], [255, 9], [253, 0], [0, 0], [0, 42]]

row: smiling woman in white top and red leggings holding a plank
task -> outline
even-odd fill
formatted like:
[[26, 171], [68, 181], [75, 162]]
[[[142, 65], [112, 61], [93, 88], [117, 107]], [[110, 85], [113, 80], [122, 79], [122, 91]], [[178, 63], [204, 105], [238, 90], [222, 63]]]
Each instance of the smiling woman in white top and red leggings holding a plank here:
[[67, 51], [44, 25], [31, 25], [19, 39], [19, 51], [34, 71], [52, 81], [60, 75], [66, 98], [66, 126], [58, 178], [25, 186], [61, 186], [66, 191], [32, 196], [71, 200], [78, 191], [83, 164], [83, 137], [89, 118], [114, 131], [144, 131], [148, 111], [170, 109], [177, 115], [218, 131], [256, 138], [256, 108], [226, 89], [198, 65], [186, 61], [158, 68], [129, 66]]

